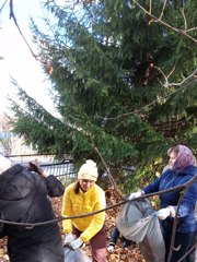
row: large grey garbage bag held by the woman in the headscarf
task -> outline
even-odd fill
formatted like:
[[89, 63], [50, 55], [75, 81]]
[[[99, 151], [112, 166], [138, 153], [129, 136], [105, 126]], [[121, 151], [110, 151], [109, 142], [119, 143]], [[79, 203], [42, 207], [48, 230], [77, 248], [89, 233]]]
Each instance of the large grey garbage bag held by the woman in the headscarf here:
[[125, 204], [116, 226], [126, 239], [137, 243], [147, 262], [164, 262], [165, 243], [160, 222], [148, 199]]

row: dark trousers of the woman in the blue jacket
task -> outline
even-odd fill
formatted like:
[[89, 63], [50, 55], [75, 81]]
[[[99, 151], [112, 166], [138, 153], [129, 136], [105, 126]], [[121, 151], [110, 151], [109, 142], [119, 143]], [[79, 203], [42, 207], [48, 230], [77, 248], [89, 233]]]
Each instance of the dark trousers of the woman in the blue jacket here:
[[[165, 249], [166, 249], [165, 261], [167, 261], [167, 257], [169, 257], [169, 251], [171, 246], [171, 235], [172, 235], [172, 231], [163, 231], [163, 238], [164, 238]], [[195, 241], [195, 233], [176, 233], [171, 262], [177, 262], [190, 249], [192, 243], [194, 241]], [[184, 259], [182, 262], [186, 262], [186, 261], [187, 260]]]

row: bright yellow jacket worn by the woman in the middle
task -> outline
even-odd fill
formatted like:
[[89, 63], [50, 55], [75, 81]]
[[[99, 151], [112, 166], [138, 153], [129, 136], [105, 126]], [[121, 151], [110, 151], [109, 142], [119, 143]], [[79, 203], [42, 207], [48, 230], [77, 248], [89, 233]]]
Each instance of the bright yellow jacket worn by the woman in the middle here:
[[[62, 216], [83, 215], [105, 209], [105, 193], [96, 183], [86, 192], [80, 189], [78, 194], [74, 192], [74, 187], [76, 183], [71, 183], [66, 188], [61, 212]], [[83, 242], [86, 242], [102, 229], [104, 219], [105, 212], [82, 218], [63, 219], [63, 233], [71, 233], [73, 223], [73, 226], [82, 231], [80, 236], [81, 239]]]

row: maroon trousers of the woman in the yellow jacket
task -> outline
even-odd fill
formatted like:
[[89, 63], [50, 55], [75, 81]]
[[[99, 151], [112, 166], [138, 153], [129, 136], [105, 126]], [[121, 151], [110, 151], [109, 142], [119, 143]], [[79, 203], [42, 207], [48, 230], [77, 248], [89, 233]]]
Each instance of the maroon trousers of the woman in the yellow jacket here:
[[[72, 234], [80, 237], [81, 231], [76, 227], [72, 227]], [[103, 227], [93, 238], [90, 239], [92, 248], [92, 262], [105, 262], [106, 261], [106, 234]]]

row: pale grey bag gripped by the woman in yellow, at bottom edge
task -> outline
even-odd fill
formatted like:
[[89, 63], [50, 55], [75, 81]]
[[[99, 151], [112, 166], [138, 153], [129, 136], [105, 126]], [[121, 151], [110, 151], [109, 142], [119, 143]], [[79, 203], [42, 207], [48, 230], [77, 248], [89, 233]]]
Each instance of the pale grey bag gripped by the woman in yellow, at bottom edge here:
[[91, 259], [82, 249], [73, 250], [69, 246], [65, 247], [65, 262], [91, 262]]

